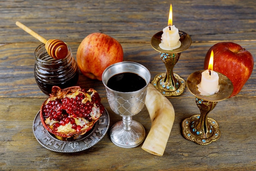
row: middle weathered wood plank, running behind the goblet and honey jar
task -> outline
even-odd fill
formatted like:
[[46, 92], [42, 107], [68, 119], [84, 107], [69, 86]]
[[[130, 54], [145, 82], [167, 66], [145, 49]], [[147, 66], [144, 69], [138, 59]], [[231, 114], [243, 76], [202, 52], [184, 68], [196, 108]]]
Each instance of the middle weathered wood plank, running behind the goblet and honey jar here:
[[[69, 43], [69, 42], [67, 42]], [[193, 43], [191, 47], [182, 52], [181, 57], [174, 67], [174, 72], [186, 80], [189, 74], [203, 69], [204, 56], [208, 49], [216, 42]], [[256, 41], [237, 42], [256, 56]], [[34, 79], [34, 50], [38, 43], [5, 44], [0, 46], [0, 97], [5, 98], [31, 98], [45, 97], [38, 88]], [[165, 67], [150, 43], [121, 43], [124, 49], [124, 60], [135, 61], [147, 67], [151, 73], [151, 80], [158, 73], [164, 73]], [[73, 56], [76, 57], [76, 49], [79, 43], [70, 43]], [[8, 67], [7, 67], [8, 66]], [[255, 67], [255, 66], [254, 66]], [[256, 96], [255, 92], [256, 70], [243, 87], [238, 96]], [[94, 88], [102, 97], [106, 97], [106, 91], [101, 81], [90, 80], [80, 73], [79, 82], [83, 88]], [[191, 96], [185, 90], [182, 96]]]

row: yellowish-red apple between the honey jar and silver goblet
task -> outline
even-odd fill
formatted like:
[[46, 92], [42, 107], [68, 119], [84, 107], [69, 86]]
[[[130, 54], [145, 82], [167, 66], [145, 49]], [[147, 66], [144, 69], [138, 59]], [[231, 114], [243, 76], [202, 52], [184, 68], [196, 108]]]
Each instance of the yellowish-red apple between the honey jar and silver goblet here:
[[85, 37], [76, 53], [81, 73], [97, 80], [101, 80], [102, 73], [108, 66], [123, 61], [123, 58], [121, 44], [103, 33], [91, 33]]

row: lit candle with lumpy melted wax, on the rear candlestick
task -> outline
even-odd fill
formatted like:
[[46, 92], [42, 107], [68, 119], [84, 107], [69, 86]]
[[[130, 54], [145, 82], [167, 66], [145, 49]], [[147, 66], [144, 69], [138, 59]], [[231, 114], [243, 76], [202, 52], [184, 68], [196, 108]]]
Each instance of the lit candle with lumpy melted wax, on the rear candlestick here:
[[159, 47], [161, 49], [172, 51], [173, 49], [177, 49], [180, 47], [180, 34], [179, 30], [173, 25], [173, 8], [170, 5], [169, 18], [168, 18], [168, 26], [163, 29], [163, 34], [161, 37], [161, 43]]

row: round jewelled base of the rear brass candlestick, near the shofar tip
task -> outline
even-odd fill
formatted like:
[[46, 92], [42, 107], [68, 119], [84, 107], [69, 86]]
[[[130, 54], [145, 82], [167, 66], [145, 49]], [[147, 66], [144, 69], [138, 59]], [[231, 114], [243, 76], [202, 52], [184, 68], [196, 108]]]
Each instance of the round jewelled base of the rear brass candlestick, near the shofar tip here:
[[151, 84], [164, 96], [177, 96], [181, 95], [186, 87], [186, 82], [183, 78], [181, 78], [178, 74], [173, 73], [174, 77], [178, 81], [178, 89], [172, 90], [171, 87], [165, 86], [163, 84], [163, 79], [166, 76], [166, 73], [159, 73], [155, 76], [154, 80], [151, 82]]

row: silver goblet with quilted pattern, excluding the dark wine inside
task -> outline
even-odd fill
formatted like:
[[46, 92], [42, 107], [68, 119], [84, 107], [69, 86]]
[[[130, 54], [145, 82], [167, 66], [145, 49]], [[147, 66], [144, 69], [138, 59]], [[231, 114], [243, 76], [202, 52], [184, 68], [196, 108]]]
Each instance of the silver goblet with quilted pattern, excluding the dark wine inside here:
[[[110, 89], [108, 80], [119, 73], [135, 73], [146, 81], [146, 86], [131, 92], [120, 92]], [[110, 65], [102, 74], [102, 82], [106, 87], [107, 98], [112, 111], [123, 117], [110, 130], [111, 141], [122, 148], [137, 147], [145, 139], [145, 129], [132, 116], [139, 113], [145, 104], [147, 87], [150, 82], [150, 72], [143, 65], [136, 62], [118, 62]]]

